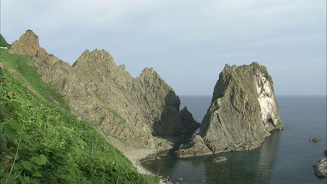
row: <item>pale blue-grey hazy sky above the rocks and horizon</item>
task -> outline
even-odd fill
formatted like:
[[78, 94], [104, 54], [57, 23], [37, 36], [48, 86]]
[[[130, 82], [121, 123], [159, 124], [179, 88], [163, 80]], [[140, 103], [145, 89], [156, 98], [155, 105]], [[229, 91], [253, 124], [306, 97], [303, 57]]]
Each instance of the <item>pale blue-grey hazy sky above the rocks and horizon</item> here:
[[104, 49], [133, 77], [153, 67], [177, 95], [212, 95], [226, 63], [265, 65], [275, 95], [326, 95], [325, 0], [1, 0], [7, 42], [26, 30], [73, 64]]

